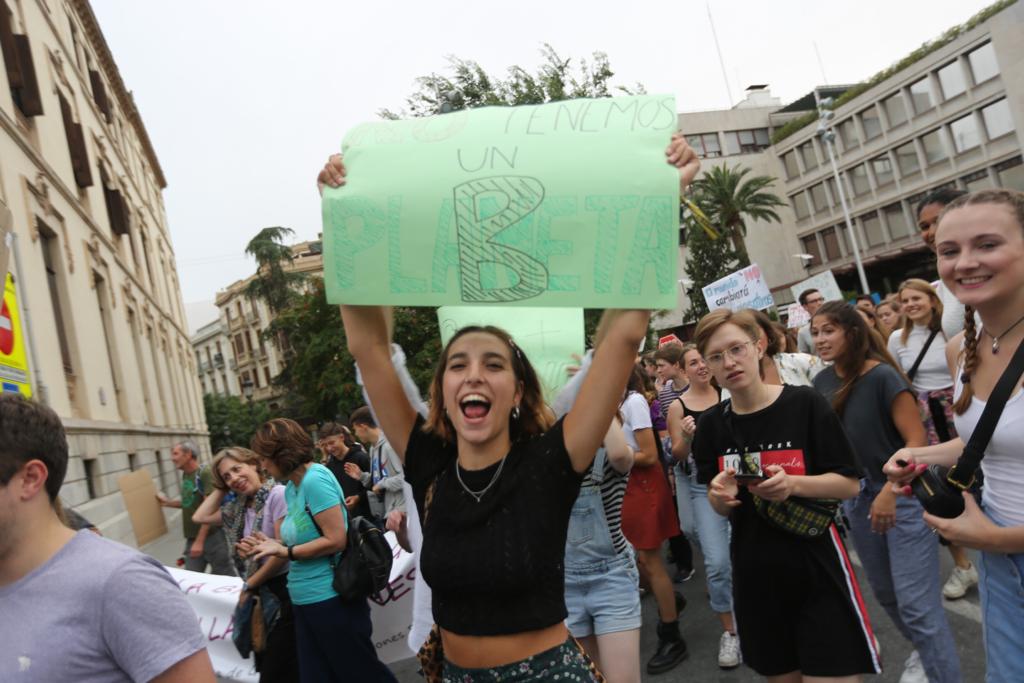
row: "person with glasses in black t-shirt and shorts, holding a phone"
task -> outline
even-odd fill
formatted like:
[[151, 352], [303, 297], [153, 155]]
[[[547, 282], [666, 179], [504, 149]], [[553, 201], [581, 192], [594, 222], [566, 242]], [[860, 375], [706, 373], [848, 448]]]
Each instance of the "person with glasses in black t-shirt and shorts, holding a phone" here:
[[[743, 660], [785, 680], [877, 674], [874, 636], [828, 504], [857, 494], [853, 450], [820, 394], [762, 381], [759, 338], [748, 311], [712, 311], [696, 329], [697, 348], [731, 392], [700, 416], [692, 449], [697, 480], [732, 524]], [[784, 523], [797, 517], [806, 523]]]

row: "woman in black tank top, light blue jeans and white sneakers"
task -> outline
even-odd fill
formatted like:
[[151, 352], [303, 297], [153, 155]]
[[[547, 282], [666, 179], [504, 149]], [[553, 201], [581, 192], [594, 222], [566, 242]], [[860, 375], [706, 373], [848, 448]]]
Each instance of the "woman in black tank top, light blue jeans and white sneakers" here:
[[686, 537], [695, 539], [700, 544], [711, 608], [718, 612], [722, 622], [718, 666], [733, 669], [739, 666], [739, 640], [732, 620], [729, 521], [712, 510], [708, 501], [708, 486], [697, 482], [696, 468], [690, 454], [697, 421], [706, 411], [721, 400], [722, 392], [711, 383], [711, 371], [695, 344], [687, 344], [683, 348], [683, 367], [690, 388], [669, 408], [672, 455], [679, 462], [675, 468], [679, 521]]

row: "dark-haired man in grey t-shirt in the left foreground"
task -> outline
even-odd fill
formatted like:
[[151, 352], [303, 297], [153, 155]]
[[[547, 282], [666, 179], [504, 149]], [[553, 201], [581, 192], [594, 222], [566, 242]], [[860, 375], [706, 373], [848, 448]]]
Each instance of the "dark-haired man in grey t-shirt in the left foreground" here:
[[0, 394], [0, 681], [213, 683], [206, 638], [170, 574], [58, 519], [59, 418]]

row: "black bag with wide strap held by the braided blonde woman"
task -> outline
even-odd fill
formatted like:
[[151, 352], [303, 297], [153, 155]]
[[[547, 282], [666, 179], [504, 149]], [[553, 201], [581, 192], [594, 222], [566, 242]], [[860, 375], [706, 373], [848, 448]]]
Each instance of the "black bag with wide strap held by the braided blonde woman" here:
[[[1024, 342], [1017, 346], [1010, 365], [995, 383], [995, 388], [985, 403], [985, 410], [978, 419], [978, 425], [964, 446], [956, 464], [952, 467], [929, 465], [928, 469], [910, 482], [910, 490], [931, 514], [952, 519], [964, 513], [963, 492], [974, 484], [975, 472], [981, 466], [981, 459], [985, 457], [988, 441], [992, 438], [992, 432], [999, 422], [1002, 409], [1006, 408], [1007, 400], [1022, 374], [1024, 374]], [[906, 465], [903, 461], [898, 462], [901, 466]]]

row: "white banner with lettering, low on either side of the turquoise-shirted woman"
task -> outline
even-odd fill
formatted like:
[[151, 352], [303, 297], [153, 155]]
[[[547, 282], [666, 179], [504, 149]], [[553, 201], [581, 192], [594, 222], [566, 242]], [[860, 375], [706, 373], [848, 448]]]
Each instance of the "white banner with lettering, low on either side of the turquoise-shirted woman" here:
[[[416, 562], [395, 540], [394, 533], [386, 535], [394, 552], [391, 582], [387, 591], [378, 599], [370, 600], [370, 618], [373, 622], [374, 644], [377, 656], [384, 664], [413, 656], [406, 642], [413, 624], [413, 582]], [[241, 683], [259, 680], [252, 657], [239, 655], [231, 632], [234, 630], [234, 606], [239, 602], [242, 580], [238, 577], [220, 577], [199, 573], [177, 567], [165, 567], [178, 582], [196, 616], [199, 628], [207, 638], [207, 650], [218, 678]]]

